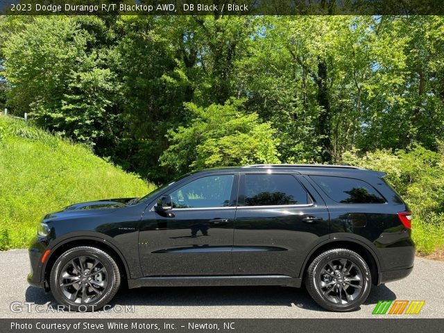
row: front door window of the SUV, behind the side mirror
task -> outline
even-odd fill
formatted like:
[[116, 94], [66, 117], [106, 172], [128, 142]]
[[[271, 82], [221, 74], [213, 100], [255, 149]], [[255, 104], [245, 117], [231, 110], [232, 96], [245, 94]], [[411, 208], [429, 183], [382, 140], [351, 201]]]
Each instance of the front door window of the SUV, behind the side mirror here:
[[233, 175], [198, 178], [171, 193], [175, 208], [224, 207], [230, 205]]

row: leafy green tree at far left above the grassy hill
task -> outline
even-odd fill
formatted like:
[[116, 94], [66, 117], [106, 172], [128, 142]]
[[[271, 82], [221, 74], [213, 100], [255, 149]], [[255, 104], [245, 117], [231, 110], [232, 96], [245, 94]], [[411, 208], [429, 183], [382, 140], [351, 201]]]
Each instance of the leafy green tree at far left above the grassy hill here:
[[106, 65], [110, 40], [99, 17], [40, 17], [24, 24], [3, 48], [8, 105], [107, 155], [120, 127], [120, 84]]

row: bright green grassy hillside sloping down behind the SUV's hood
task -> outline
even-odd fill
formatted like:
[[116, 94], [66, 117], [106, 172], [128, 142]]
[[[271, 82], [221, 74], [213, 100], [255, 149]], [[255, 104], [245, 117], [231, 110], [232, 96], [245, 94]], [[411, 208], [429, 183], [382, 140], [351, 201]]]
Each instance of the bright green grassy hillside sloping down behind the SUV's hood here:
[[48, 212], [153, 188], [84, 146], [0, 115], [0, 250], [28, 246]]

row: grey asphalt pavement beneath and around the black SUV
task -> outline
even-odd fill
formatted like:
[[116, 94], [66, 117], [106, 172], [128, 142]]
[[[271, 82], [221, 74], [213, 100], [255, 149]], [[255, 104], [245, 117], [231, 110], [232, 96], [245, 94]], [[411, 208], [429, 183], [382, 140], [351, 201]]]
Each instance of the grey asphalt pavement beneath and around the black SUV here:
[[373, 287], [359, 310], [345, 314], [325, 311], [305, 289], [288, 287], [124, 289], [107, 311], [58, 312], [51, 293], [26, 282], [26, 250], [1, 252], [0, 263], [0, 318], [387, 318], [372, 311], [378, 300], [395, 299], [425, 300], [420, 314], [398, 317], [444, 318], [444, 262], [419, 257], [408, 278]]

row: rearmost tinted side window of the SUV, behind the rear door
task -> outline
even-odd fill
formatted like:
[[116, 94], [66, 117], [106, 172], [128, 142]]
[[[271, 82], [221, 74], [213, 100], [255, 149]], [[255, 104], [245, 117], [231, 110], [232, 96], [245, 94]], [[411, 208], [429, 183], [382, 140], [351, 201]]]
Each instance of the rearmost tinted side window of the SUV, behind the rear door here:
[[336, 203], [385, 203], [368, 182], [354, 178], [310, 176]]

